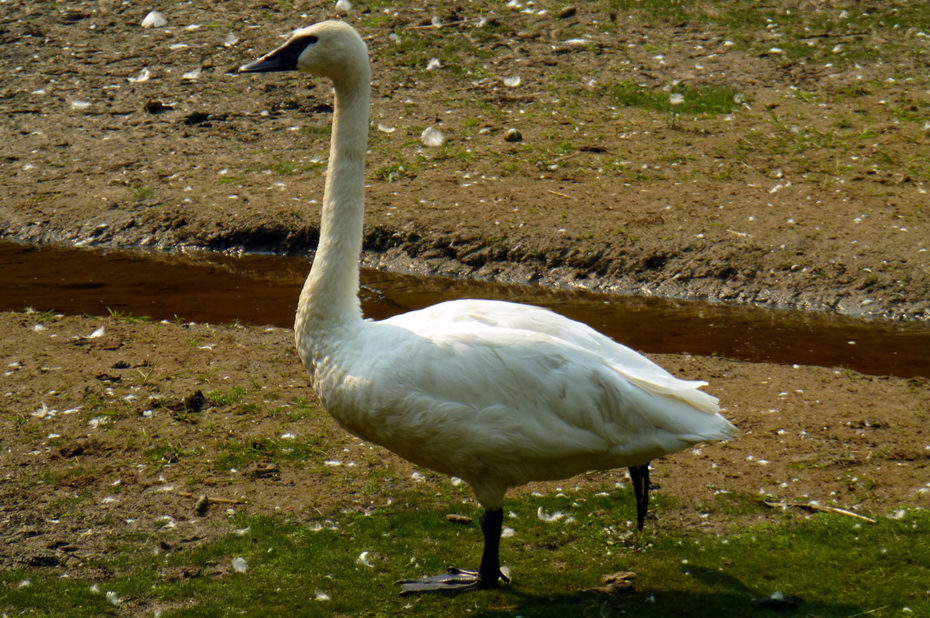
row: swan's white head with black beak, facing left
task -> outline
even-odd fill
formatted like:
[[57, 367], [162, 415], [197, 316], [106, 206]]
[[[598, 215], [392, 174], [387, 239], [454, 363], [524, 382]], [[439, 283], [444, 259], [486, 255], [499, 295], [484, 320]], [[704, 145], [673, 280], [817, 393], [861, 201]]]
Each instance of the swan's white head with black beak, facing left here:
[[302, 71], [322, 75], [337, 84], [368, 79], [368, 48], [352, 26], [324, 21], [295, 30], [284, 45], [239, 67], [240, 73]]

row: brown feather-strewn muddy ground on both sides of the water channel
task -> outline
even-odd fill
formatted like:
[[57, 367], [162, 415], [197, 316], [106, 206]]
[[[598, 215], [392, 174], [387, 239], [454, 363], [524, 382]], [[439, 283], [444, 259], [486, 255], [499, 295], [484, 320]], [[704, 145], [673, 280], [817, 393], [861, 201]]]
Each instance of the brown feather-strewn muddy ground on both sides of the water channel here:
[[[908, 8], [921, 3], [356, 4], [375, 74], [369, 264], [930, 317], [930, 21]], [[141, 28], [150, 8], [168, 26]], [[3, 4], [0, 233], [312, 249], [329, 87], [232, 71], [332, 15]], [[699, 101], [721, 92], [722, 111]], [[444, 146], [421, 144], [428, 126]], [[288, 331], [20, 312], [0, 315], [0, 342], [2, 568], [87, 574], [126, 533], [200, 543], [229, 532], [227, 508], [313, 518], [418, 483], [316, 407]], [[741, 434], [657, 464], [673, 500], [653, 525], [768, 516], [712, 509], [720, 491], [873, 515], [930, 506], [925, 379], [657, 360], [709, 380]], [[283, 456], [291, 441], [307, 457]], [[201, 494], [228, 502], [201, 516]]]

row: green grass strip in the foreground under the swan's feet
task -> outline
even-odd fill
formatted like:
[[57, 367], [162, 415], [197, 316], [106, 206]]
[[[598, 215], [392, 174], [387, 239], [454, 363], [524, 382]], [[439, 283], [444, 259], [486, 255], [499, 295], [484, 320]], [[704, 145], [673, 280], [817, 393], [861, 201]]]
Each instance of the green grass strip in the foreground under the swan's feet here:
[[[331, 513], [315, 521], [237, 517], [239, 528], [186, 550], [155, 551], [167, 531], [114, 539], [91, 566], [96, 580], [44, 569], [0, 574], [0, 611], [90, 616], [161, 610], [163, 616], [773, 616], [751, 602], [780, 591], [803, 599], [800, 615], [930, 615], [930, 515], [908, 511], [868, 524], [839, 515], [775, 513], [775, 523], [705, 533], [650, 522], [632, 532], [628, 493], [526, 496], [510, 500], [502, 560], [512, 585], [456, 597], [401, 598], [397, 579], [480, 559], [477, 524], [445, 520], [476, 509], [445, 498], [402, 495], [369, 513]], [[432, 506], [423, 506], [430, 502]], [[720, 510], [754, 511], [731, 496]], [[662, 521], [663, 502], [658, 504]], [[561, 511], [573, 518], [544, 522]], [[711, 511], [715, 509], [711, 508]], [[720, 517], [715, 513], [711, 518]], [[243, 532], [244, 529], [247, 531]], [[362, 552], [372, 566], [358, 561]], [[248, 572], [235, 573], [244, 558]], [[587, 591], [600, 576], [637, 573], [636, 591], [608, 597]], [[184, 576], [179, 576], [184, 573]], [[22, 582], [28, 581], [28, 585]], [[92, 591], [91, 586], [95, 586]], [[106, 599], [112, 591], [122, 607]], [[329, 600], [317, 600], [319, 593]], [[790, 612], [787, 615], [798, 615]]]

